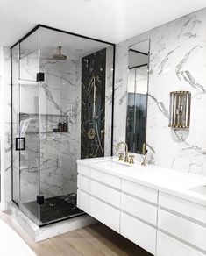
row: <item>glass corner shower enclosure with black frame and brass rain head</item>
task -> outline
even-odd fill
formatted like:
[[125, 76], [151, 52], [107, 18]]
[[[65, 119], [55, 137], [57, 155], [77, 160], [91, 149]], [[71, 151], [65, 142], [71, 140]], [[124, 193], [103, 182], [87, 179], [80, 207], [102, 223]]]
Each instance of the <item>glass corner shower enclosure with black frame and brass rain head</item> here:
[[76, 160], [112, 154], [114, 47], [45, 25], [11, 47], [12, 200], [39, 226], [84, 214]]

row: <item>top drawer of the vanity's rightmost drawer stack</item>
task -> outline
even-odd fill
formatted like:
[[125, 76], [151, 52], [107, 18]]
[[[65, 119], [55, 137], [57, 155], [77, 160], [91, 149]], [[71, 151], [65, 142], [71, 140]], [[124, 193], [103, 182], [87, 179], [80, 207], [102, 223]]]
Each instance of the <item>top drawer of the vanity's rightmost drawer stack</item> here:
[[170, 196], [165, 193], [159, 194], [159, 204], [169, 210], [174, 210], [187, 217], [194, 218], [206, 224], [206, 207], [189, 202], [179, 197]]

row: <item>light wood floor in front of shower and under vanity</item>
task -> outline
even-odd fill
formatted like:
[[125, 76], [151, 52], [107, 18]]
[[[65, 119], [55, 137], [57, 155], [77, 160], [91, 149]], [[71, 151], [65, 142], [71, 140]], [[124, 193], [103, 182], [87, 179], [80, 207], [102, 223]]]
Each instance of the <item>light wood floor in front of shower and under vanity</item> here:
[[70, 231], [55, 238], [34, 243], [19, 229], [17, 224], [6, 214], [0, 218], [9, 224], [38, 256], [150, 256], [151, 254], [118, 235], [103, 224]]

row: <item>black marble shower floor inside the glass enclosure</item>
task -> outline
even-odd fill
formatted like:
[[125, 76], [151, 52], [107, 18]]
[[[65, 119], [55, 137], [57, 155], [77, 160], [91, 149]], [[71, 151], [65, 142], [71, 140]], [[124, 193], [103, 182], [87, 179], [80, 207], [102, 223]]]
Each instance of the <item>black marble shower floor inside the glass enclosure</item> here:
[[84, 214], [82, 210], [76, 207], [75, 193], [46, 198], [44, 204], [40, 206], [36, 201], [24, 203], [24, 208], [30, 211], [34, 217], [39, 218], [42, 224]]

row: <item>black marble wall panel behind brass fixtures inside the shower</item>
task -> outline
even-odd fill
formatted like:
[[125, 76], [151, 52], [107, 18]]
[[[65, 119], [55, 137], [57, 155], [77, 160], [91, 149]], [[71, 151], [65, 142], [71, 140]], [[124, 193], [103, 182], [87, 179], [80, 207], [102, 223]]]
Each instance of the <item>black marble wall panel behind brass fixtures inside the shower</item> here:
[[104, 154], [106, 49], [82, 58], [81, 158]]

